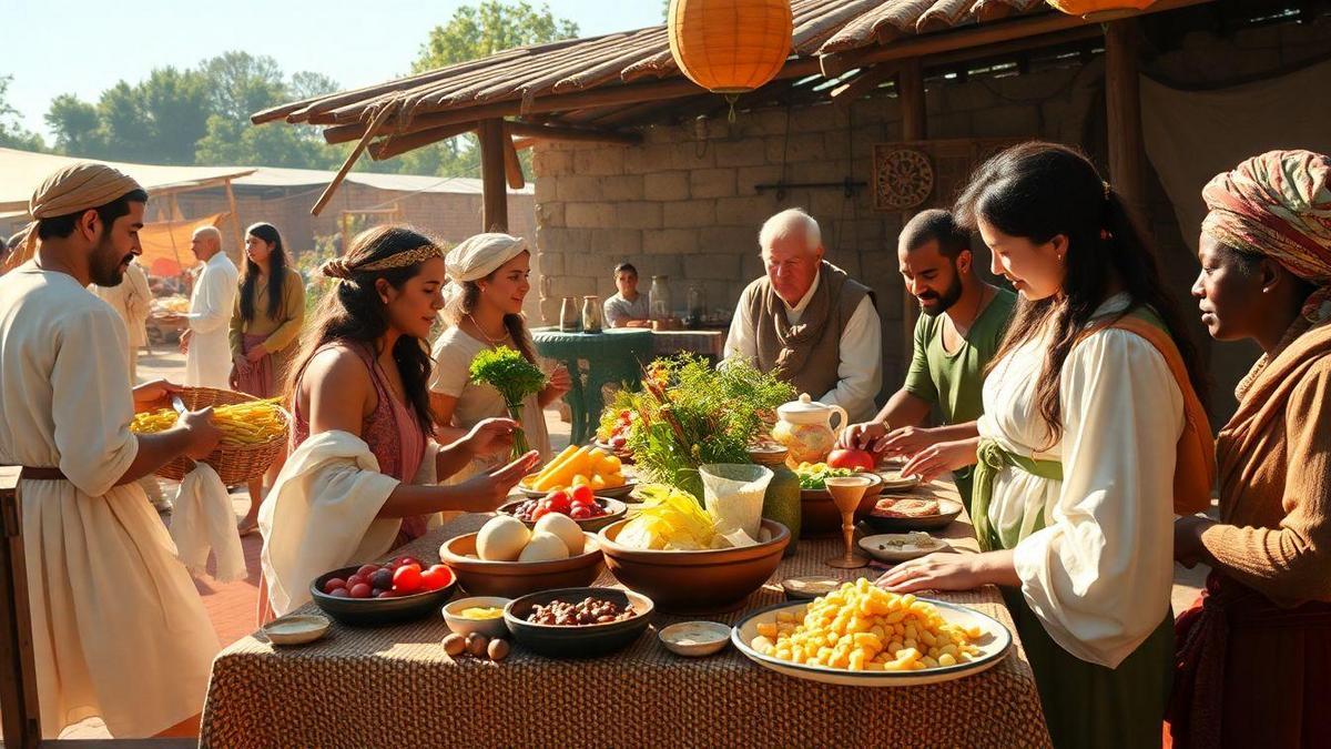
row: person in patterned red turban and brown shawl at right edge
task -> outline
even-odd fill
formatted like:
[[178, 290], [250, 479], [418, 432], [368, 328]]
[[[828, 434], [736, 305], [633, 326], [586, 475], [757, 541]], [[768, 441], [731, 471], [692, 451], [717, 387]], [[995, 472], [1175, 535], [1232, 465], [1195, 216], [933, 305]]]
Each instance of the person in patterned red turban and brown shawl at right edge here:
[[1175, 558], [1213, 572], [1177, 622], [1170, 733], [1331, 746], [1331, 157], [1263, 153], [1202, 199], [1202, 321], [1264, 355], [1217, 438], [1219, 522], [1174, 525]]

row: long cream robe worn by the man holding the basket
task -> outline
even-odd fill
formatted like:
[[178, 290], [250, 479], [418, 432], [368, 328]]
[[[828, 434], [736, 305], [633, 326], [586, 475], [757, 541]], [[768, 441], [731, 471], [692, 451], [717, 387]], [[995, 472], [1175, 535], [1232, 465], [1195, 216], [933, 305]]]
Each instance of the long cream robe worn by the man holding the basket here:
[[19, 484], [37, 692], [48, 738], [101, 716], [144, 737], [198, 713], [218, 650], [194, 584], [137, 484], [125, 327], [73, 277], [0, 279], [0, 464]]

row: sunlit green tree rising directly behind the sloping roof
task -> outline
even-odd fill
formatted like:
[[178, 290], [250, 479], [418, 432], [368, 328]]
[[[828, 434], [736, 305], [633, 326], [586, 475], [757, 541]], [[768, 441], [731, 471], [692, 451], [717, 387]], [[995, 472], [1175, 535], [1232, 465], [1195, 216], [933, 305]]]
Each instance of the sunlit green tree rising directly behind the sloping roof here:
[[[555, 17], [550, 5], [536, 9], [524, 1], [484, 0], [475, 7], [458, 8], [449, 23], [430, 29], [430, 36], [421, 47], [421, 55], [411, 69], [418, 73], [433, 71], [512, 47], [547, 44], [576, 36], [578, 24]], [[520, 157], [523, 171], [530, 175], [530, 155], [523, 152]], [[480, 159], [473, 135], [419, 148], [387, 163], [393, 161], [399, 161], [402, 171], [415, 173], [469, 177], [480, 175]], [[423, 168], [430, 171], [421, 171]]]

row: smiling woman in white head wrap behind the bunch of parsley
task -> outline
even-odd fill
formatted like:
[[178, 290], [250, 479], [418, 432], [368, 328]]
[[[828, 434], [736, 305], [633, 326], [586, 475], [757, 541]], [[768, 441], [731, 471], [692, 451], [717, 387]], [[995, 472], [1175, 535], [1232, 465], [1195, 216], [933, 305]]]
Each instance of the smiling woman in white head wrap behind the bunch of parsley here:
[[[476, 235], [453, 248], [445, 264], [455, 289], [445, 308], [451, 327], [434, 343], [430, 406], [439, 424], [438, 438], [447, 444], [478, 421], [507, 416], [498, 390], [471, 382], [471, 360], [498, 347], [516, 349], [532, 363], [536, 353], [522, 317], [522, 301], [531, 291], [527, 281], [531, 253], [526, 240], [502, 233]], [[543, 461], [550, 460], [550, 434], [542, 409], [568, 388], [568, 371], [559, 367], [551, 373], [550, 385], [528, 397], [523, 409], [523, 430]]]

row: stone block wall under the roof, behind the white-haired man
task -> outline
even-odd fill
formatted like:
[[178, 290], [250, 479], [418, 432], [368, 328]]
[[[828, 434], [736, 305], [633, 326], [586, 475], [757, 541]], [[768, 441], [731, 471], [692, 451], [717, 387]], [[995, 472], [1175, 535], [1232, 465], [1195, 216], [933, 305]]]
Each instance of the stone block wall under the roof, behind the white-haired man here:
[[[929, 135], [1079, 144], [1101, 79], [1102, 65], [1093, 61], [1028, 76], [930, 83]], [[542, 143], [534, 159], [536, 243], [542, 271], [552, 279], [550, 319], [560, 296], [612, 295], [611, 271], [624, 260], [638, 267], [644, 291], [651, 276], [666, 275], [677, 305], [696, 285], [708, 308], [729, 313], [763, 273], [763, 221], [800, 207], [819, 220], [827, 259], [877, 293], [884, 381], [888, 392], [896, 389], [910, 345], [896, 260], [902, 219], [874, 211], [868, 188], [848, 197], [840, 183], [872, 180], [873, 144], [900, 140], [900, 120], [896, 97], [884, 95], [851, 107], [741, 112], [733, 124], [652, 127], [635, 147]], [[783, 179], [837, 184], [783, 196], [759, 189]], [[950, 199], [941, 196], [944, 204]]]

